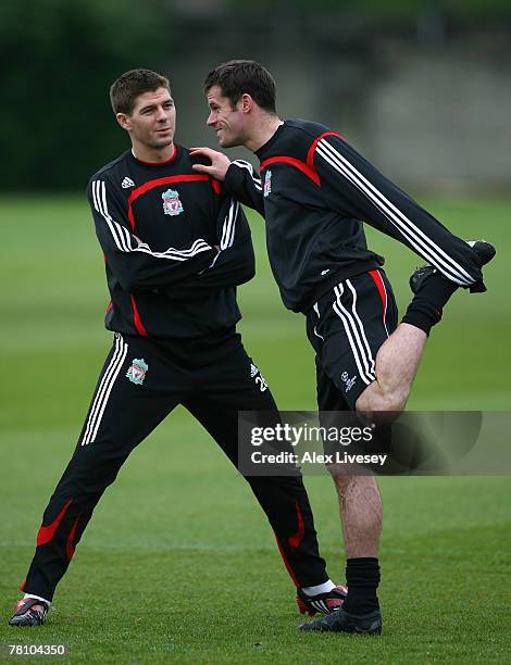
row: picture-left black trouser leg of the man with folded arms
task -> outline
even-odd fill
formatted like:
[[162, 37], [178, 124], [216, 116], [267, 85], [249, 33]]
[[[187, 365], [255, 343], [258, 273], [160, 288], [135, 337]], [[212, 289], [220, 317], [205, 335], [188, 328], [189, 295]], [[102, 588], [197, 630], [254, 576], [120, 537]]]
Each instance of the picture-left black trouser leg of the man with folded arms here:
[[75, 452], [45, 510], [22, 586], [27, 593], [52, 600], [102, 493], [132, 450], [178, 403], [176, 396], [160, 389], [157, 367], [150, 365], [142, 384], [126, 377], [132, 361], [145, 351], [132, 338], [126, 343], [115, 337]]

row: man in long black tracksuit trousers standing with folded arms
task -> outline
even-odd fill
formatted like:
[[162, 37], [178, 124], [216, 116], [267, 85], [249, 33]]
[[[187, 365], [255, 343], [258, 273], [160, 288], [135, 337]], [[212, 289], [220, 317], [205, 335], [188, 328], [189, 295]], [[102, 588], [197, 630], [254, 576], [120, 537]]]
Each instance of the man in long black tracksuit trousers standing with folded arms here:
[[[198, 174], [174, 143], [169, 80], [127, 72], [111, 88], [133, 150], [98, 171], [87, 197], [111, 294], [113, 347], [74, 454], [53, 492], [22, 586], [14, 626], [43, 622], [59, 580], [107, 487], [133, 449], [177, 405], [237, 464], [237, 412], [278, 412], [236, 324], [236, 286], [254, 259], [244, 212], [225, 187]], [[172, 473], [172, 472], [171, 472]], [[345, 590], [329, 580], [299, 477], [247, 478], [275, 531], [300, 610], [331, 612]]]

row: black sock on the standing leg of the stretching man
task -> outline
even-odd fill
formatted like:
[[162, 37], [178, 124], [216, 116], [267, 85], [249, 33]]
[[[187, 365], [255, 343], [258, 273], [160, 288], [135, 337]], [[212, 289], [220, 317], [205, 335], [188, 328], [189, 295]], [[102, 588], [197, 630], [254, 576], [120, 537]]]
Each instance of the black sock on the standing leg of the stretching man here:
[[379, 584], [378, 560], [361, 556], [346, 561], [348, 597], [342, 608], [350, 614], [367, 614], [379, 608], [376, 589]]

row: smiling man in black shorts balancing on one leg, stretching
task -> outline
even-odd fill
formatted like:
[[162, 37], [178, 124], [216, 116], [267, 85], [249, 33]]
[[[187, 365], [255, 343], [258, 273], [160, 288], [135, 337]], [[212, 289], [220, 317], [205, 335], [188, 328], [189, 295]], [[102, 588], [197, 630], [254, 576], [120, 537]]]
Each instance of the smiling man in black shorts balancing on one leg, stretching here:
[[[207, 76], [208, 125], [221, 147], [242, 145], [260, 160], [233, 162], [208, 148], [197, 173], [224, 180], [266, 222], [273, 274], [286, 308], [307, 317], [315, 350], [320, 411], [356, 410], [390, 419], [407, 402], [443, 306], [458, 287], [483, 291], [481, 267], [495, 250], [449, 233], [383, 176], [336, 131], [302, 120], [283, 122], [275, 83], [253, 61], [230, 61]], [[398, 325], [384, 259], [365, 242], [361, 222], [428, 262], [411, 280], [415, 296]], [[348, 597], [342, 607], [303, 629], [376, 633], [382, 617], [378, 540], [382, 502], [372, 476], [331, 466], [341, 512]]]

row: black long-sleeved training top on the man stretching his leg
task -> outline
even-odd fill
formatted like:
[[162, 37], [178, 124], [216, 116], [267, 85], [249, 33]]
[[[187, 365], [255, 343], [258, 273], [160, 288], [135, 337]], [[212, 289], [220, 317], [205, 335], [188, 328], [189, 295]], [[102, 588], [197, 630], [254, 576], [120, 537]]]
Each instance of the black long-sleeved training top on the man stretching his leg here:
[[225, 187], [264, 216], [270, 263], [289, 310], [306, 312], [333, 284], [383, 265], [362, 222], [460, 286], [482, 281], [472, 248], [328, 127], [286, 121], [256, 154], [261, 178], [238, 160]]

